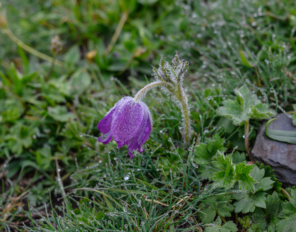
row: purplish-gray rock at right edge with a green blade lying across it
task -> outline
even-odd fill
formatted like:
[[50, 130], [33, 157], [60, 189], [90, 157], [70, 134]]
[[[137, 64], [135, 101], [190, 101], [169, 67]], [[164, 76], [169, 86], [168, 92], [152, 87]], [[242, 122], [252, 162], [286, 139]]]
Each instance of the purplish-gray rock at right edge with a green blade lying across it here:
[[[267, 137], [264, 128], [265, 124], [260, 126], [251, 157], [254, 161], [264, 163], [274, 169], [274, 175], [284, 186], [296, 185], [296, 145]], [[268, 128], [296, 131], [292, 119], [284, 113], [278, 114], [276, 120], [271, 122]]]

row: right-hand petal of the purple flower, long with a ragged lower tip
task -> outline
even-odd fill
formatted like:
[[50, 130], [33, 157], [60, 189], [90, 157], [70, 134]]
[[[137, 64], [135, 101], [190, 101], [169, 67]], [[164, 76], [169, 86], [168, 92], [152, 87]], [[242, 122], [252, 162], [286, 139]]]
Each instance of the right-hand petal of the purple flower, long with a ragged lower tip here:
[[[136, 135], [133, 137], [133, 141], [131, 144], [128, 146], [128, 155], [133, 158], [133, 151], [137, 150], [139, 152], [143, 152], [144, 148], [141, 147], [141, 145], [144, 144], [144, 142], [147, 141], [147, 139], [150, 136], [151, 132], [151, 122], [150, 122], [150, 114], [149, 114], [149, 109], [144, 105], [144, 118], [142, 120], [141, 126], [139, 130], [137, 131]], [[148, 111], [147, 111], [148, 110]]]

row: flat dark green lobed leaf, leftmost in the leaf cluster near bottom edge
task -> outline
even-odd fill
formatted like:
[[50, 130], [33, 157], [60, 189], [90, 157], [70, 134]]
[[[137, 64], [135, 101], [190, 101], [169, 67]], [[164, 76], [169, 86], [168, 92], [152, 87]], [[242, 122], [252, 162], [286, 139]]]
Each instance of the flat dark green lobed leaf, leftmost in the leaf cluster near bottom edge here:
[[221, 217], [230, 217], [234, 207], [230, 204], [230, 195], [217, 195], [207, 198], [207, 202], [201, 202], [199, 207], [201, 210], [197, 213], [202, 220], [202, 223], [212, 223], [216, 214]]

